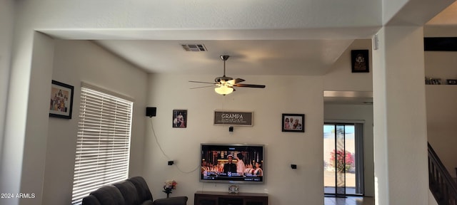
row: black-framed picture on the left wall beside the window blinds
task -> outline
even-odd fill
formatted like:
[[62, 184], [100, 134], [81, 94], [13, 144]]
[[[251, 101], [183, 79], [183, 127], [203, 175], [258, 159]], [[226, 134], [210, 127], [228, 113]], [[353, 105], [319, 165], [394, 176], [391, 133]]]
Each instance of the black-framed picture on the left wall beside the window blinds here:
[[74, 86], [56, 80], [51, 82], [49, 117], [71, 119]]

